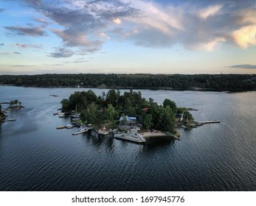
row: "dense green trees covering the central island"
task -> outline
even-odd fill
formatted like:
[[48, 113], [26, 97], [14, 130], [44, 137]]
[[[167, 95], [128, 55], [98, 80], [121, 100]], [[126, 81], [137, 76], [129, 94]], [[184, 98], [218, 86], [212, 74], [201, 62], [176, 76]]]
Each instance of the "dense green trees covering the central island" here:
[[69, 99], [63, 99], [61, 104], [64, 112], [77, 110], [83, 123], [97, 126], [108, 122], [116, 128], [121, 116], [133, 116], [143, 129], [175, 132], [176, 113], [183, 113], [188, 120], [193, 119], [185, 108], [176, 107], [170, 99], [158, 105], [153, 99], [142, 98], [140, 91], [133, 90], [121, 95], [119, 90], [111, 89], [101, 96], [96, 96], [92, 90], [76, 91]]

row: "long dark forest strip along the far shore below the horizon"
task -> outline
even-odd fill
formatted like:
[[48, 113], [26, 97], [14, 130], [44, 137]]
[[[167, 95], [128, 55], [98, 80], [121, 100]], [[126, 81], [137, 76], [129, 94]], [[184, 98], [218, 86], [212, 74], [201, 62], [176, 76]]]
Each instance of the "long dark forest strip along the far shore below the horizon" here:
[[38, 74], [1, 75], [1, 85], [84, 88], [255, 90], [249, 74]]

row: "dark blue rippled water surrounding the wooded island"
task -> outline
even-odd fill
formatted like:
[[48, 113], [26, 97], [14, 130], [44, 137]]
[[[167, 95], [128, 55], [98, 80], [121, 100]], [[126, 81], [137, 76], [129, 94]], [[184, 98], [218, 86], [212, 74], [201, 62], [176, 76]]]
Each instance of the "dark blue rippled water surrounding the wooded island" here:
[[25, 106], [9, 114], [15, 121], [0, 124], [0, 191], [256, 190], [255, 91], [141, 90], [159, 104], [169, 98], [198, 109], [197, 121], [221, 121], [180, 129], [179, 141], [143, 145], [56, 129], [70, 120], [52, 114], [75, 90], [85, 89], [0, 87], [0, 102], [18, 99]]

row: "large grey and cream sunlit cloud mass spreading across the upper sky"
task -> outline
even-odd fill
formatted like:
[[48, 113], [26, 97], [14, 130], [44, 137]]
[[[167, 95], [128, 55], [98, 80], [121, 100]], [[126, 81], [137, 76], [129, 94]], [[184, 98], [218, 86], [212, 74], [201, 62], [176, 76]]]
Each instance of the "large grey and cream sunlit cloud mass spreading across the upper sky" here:
[[[59, 48], [77, 47], [75, 54], [100, 51], [105, 40], [128, 40], [136, 46], [212, 51], [224, 43], [255, 46], [253, 1], [21, 0], [41, 14], [41, 26], [6, 26], [18, 35], [43, 36], [47, 21], [63, 41]], [[48, 2], [48, 3], [47, 3]], [[45, 21], [47, 19], [47, 21]], [[48, 27], [47, 26], [47, 27]], [[45, 28], [46, 29], [46, 28]], [[57, 54], [55, 55], [55, 52]], [[65, 56], [66, 52], [64, 52]], [[72, 53], [67, 53], [68, 57]], [[61, 56], [58, 51], [53, 57]]]

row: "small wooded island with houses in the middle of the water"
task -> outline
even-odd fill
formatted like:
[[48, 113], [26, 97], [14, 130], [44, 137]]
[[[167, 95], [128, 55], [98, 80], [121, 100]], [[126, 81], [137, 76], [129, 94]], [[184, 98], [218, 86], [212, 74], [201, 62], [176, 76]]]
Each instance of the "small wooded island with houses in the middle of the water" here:
[[76, 120], [79, 116], [74, 124], [90, 124], [100, 132], [120, 131], [117, 137], [122, 132], [136, 130], [144, 138], [162, 135], [178, 138], [176, 128], [193, 122], [187, 108], [177, 107], [170, 99], [159, 105], [151, 98], [142, 98], [142, 93], [134, 90], [121, 95], [120, 90], [111, 89], [100, 96], [92, 90], [76, 91], [69, 99], [62, 99], [61, 104], [64, 114], [70, 114]]

